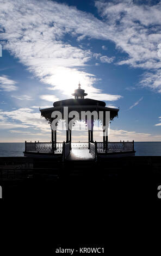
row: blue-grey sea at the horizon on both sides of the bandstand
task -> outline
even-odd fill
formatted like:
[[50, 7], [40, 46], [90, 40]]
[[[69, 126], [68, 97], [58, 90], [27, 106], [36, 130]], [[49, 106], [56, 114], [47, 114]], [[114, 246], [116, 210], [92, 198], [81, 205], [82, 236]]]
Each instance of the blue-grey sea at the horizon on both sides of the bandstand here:
[[[136, 156], [161, 156], [161, 142], [135, 142]], [[23, 156], [24, 143], [0, 143], [0, 157]]]

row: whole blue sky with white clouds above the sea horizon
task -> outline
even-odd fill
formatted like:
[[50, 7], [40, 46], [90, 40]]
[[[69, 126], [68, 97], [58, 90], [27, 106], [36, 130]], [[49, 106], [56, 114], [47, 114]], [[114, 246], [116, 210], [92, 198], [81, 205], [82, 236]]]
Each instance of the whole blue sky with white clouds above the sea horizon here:
[[[0, 142], [50, 141], [39, 107], [73, 97], [79, 81], [88, 98], [120, 108], [110, 141], [161, 141], [160, 1], [0, 6]], [[95, 139], [102, 141], [101, 131]], [[88, 141], [88, 133], [73, 131], [72, 141]]]

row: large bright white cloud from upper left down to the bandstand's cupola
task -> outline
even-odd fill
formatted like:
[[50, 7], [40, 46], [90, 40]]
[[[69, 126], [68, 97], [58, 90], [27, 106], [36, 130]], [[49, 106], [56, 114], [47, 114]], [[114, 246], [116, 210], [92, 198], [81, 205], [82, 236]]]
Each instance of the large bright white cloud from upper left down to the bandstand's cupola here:
[[92, 52], [72, 46], [64, 38], [66, 35], [78, 40], [85, 36], [104, 38], [101, 35], [103, 22], [91, 14], [53, 1], [1, 2], [1, 40], [5, 42], [5, 50], [20, 59], [41, 82], [66, 96], [76, 89], [80, 80], [86, 92], [101, 97], [102, 90], [94, 87], [99, 78], [82, 71], [93, 58]]

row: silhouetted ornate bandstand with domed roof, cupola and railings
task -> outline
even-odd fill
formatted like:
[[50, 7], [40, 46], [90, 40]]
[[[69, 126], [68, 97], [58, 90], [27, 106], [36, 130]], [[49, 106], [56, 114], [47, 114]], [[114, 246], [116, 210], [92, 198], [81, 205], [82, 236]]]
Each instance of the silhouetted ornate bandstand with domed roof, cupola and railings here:
[[[82, 111], [89, 111], [92, 113], [96, 111], [99, 118], [99, 113], [103, 113], [102, 125], [106, 125], [106, 112], [110, 112], [110, 121], [117, 117], [119, 109], [106, 107], [106, 103], [103, 101], [84, 99], [87, 94], [78, 85], [78, 89], [72, 94], [75, 99], [60, 100], [53, 103], [53, 107], [40, 109], [41, 116], [45, 117], [46, 121], [51, 125], [53, 120], [57, 120], [56, 126], [51, 129], [51, 142], [25, 142], [24, 156], [34, 157], [59, 157], [64, 160], [77, 160], [77, 159], [95, 159], [102, 157], [116, 157], [116, 156], [132, 156], [135, 154], [134, 141], [133, 142], [109, 142], [108, 132], [102, 131], [102, 142], [94, 142], [93, 128], [94, 128], [94, 115], [88, 119], [85, 115], [85, 119], [81, 119]], [[58, 111], [62, 115], [62, 119], [65, 121], [66, 126], [66, 142], [57, 142], [57, 125], [58, 115], [52, 117], [52, 113]], [[67, 113], [64, 113], [67, 111]], [[88, 128], [88, 142], [72, 142], [72, 127], [75, 122], [70, 124], [73, 119], [69, 116], [69, 113], [77, 111], [79, 117], [78, 121], [85, 121]], [[56, 112], [55, 112], [56, 113]], [[66, 114], [66, 115], [65, 115]], [[64, 118], [67, 117], [67, 120]], [[75, 117], [75, 115], [74, 115]], [[56, 121], [55, 120], [55, 121]], [[70, 125], [69, 125], [70, 124]], [[51, 125], [52, 128], [52, 125]], [[77, 149], [77, 154], [73, 154], [74, 149]], [[79, 151], [78, 151], [79, 149]], [[82, 149], [85, 149], [84, 151]], [[81, 151], [82, 150], [82, 151]], [[71, 153], [71, 154], [70, 154]]]

